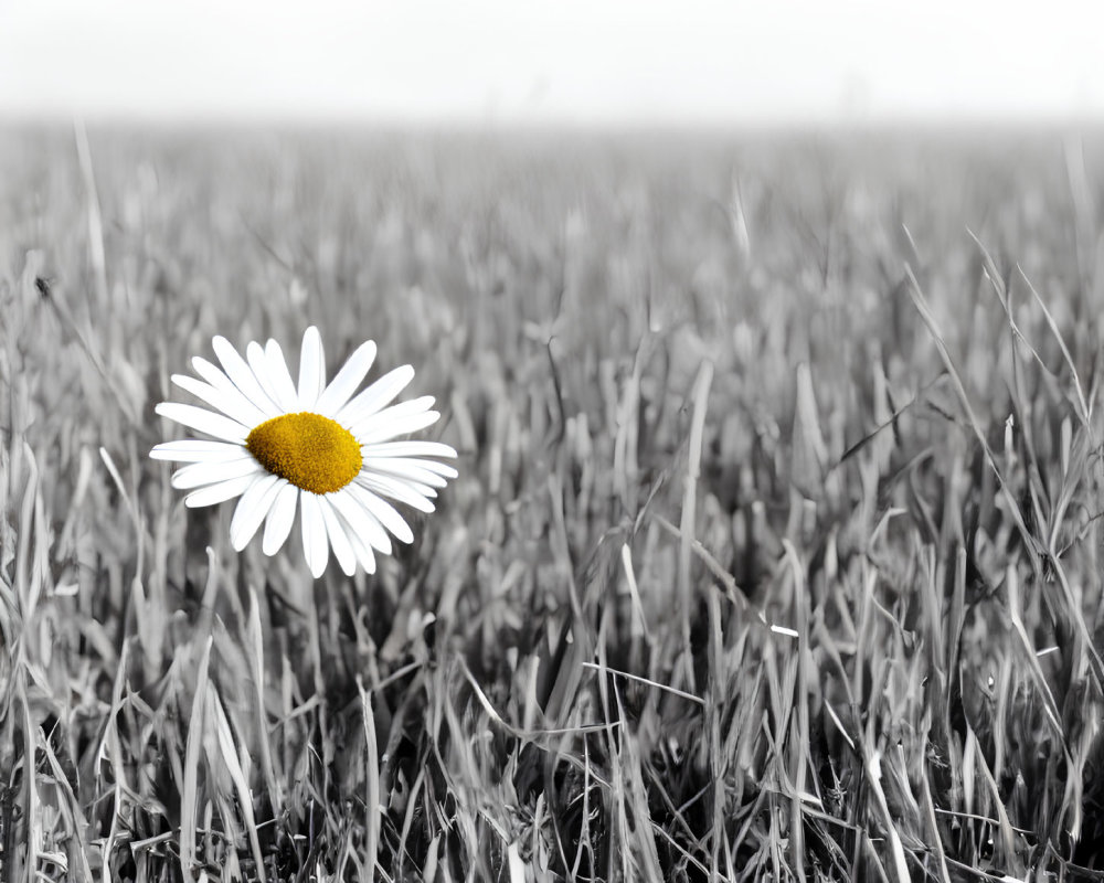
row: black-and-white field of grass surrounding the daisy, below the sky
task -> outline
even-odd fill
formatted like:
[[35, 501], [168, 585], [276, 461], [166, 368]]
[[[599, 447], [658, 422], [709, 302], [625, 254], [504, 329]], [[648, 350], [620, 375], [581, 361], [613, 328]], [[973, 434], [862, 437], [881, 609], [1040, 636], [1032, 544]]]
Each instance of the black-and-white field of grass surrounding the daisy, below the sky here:
[[[1100, 140], [0, 170], [0, 881], [1104, 879]], [[213, 334], [308, 325], [460, 454], [370, 577], [147, 456]]]

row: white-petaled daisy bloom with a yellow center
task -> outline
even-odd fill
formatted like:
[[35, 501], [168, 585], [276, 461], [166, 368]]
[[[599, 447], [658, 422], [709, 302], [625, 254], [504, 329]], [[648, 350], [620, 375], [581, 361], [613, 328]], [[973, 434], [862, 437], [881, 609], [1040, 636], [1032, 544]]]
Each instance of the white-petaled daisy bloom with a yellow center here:
[[375, 359], [372, 341], [349, 357], [329, 385], [317, 328], [302, 336], [298, 385], [275, 340], [264, 347], [252, 341], [245, 359], [223, 337], [212, 343], [222, 370], [195, 357], [192, 365], [202, 380], [173, 374], [172, 382], [221, 413], [176, 402], [155, 408], [215, 439], [166, 442], [149, 454], [189, 464], [172, 475], [174, 488], [191, 491], [185, 506], [240, 498], [231, 544], [241, 552], [264, 522], [266, 555], [284, 545], [298, 509], [315, 577], [326, 570], [330, 547], [352, 576], [358, 563], [374, 573], [375, 553], [391, 554], [392, 536], [413, 542], [410, 525], [389, 500], [432, 512], [434, 489], [457, 475], [426, 459], [455, 457], [448, 445], [392, 440], [440, 416], [429, 409], [429, 395], [391, 405], [414, 379], [413, 368], [396, 368], [353, 395]]

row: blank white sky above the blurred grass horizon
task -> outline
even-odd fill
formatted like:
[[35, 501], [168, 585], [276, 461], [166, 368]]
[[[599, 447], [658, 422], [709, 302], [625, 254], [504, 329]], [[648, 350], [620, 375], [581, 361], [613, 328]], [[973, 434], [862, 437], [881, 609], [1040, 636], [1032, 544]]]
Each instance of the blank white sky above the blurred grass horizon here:
[[0, 0], [0, 119], [1104, 119], [1104, 4], [1030, 6]]

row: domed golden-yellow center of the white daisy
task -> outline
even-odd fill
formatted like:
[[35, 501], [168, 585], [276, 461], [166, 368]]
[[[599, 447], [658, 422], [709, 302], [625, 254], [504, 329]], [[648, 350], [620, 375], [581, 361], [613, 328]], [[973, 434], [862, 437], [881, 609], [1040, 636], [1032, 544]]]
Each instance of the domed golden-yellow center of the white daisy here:
[[311, 493], [341, 490], [364, 462], [352, 433], [309, 411], [255, 426], [245, 447], [269, 472]]

